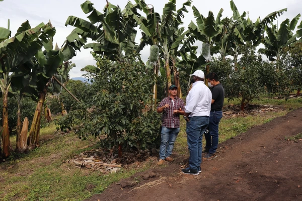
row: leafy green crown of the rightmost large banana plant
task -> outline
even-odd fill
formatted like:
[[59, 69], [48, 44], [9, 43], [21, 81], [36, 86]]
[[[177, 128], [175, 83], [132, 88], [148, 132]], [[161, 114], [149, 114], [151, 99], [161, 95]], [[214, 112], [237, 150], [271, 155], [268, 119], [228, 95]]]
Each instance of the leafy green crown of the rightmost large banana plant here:
[[273, 24], [271, 27], [266, 27], [267, 36], [262, 41], [265, 49], [261, 48], [258, 52], [264, 53], [270, 61], [280, 60], [282, 49], [296, 41], [297, 35], [293, 34], [292, 31], [296, 28], [300, 16], [298, 14], [291, 21], [289, 19], [284, 20], [279, 29]]

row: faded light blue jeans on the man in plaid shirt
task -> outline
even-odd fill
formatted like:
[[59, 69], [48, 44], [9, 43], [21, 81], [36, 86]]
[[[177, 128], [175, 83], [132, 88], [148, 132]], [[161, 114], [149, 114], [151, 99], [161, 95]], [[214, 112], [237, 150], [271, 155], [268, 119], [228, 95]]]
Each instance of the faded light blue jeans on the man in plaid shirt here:
[[167, 128], [163, 126], [160, 146], [160, 159], [165, 160], [165, 158], [171, 156], [174, 142], [179, 131], [180, 128]]

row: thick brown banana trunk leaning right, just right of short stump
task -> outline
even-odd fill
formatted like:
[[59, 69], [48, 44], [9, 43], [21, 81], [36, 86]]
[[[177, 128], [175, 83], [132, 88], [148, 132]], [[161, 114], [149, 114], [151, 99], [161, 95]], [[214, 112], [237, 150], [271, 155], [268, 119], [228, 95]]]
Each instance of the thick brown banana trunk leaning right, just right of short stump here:
[[39, 93], [39, 100], [37, 103], [36, 111], [30, 127], [29, 137], [27, 144], [30, 147], [39, 147], [39, 135], [40, 135], [40, 123], [41, 123], [41, 112], [47, 92], [47, 86], [44, 87], [43, 91]]

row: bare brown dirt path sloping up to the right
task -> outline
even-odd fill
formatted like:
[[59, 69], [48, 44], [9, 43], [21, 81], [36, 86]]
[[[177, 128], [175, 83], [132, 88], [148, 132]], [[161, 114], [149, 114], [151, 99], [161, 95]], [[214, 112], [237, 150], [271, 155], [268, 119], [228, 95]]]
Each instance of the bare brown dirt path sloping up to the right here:
[[[255, 127], [219, 145], [198, 176], [180, 173], [179, 158], [111, 185], [88, 200], [302, 200], [302, 109]], [[141, 179], [133, 189], [134, 178]], [[156, 185], [155, 185], [156, 184]]]

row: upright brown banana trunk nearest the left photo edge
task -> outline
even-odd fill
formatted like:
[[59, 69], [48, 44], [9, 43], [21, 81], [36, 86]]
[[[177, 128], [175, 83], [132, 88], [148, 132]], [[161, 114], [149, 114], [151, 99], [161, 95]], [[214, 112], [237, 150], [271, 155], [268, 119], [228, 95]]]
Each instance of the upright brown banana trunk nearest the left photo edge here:
[[10, 153], [10, 132], [9, 132], [9, 114], [8, 114], [8, 90], [3, 92], [3, 116], [2, 116], [2, 145], [3, 157], [8, 157]]

